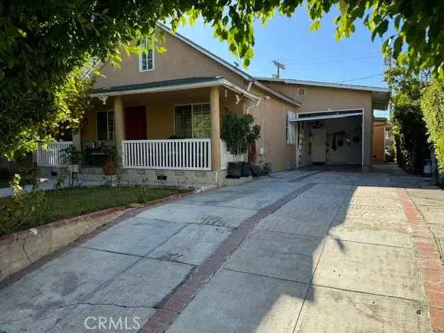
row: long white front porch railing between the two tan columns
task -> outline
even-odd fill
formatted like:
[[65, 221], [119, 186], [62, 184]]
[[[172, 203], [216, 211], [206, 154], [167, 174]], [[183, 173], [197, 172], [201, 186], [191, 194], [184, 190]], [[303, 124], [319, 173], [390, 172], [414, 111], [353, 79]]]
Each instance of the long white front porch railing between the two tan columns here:
[[123, 168], [211, 170], [211, 139], [123, 140]]

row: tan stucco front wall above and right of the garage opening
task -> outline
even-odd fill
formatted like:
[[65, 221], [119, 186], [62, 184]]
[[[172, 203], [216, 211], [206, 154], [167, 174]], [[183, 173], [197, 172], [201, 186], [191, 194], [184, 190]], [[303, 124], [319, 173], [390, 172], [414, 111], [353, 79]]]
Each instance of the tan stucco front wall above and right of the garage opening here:
[[[272, 89], [287, 94], [302, 103], [297, 112], [364, 109], [364, 169], [370, 169], [372, 161], [373, 105], [372, 93], [361, 90], [293, 85], [281, 82], [262, 82]], [[305, 88], [305, 96], [298, 96], [298, 88]]]

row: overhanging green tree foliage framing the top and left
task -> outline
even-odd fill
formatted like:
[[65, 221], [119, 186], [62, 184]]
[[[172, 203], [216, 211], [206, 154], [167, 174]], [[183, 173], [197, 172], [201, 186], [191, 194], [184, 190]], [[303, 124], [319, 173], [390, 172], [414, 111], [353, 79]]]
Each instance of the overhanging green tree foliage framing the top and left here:
[[[348, 37], [362, 19], [372, 39], [384, 36], [386, 54], [407, 60], [411, 71], [431, 68], [434, 76], [444, 78], [444, 1], [0, 1], [0, 155], [33, 151], [53, 136], [58, 123], [76, 123], [76, 108], [66, 106], [74, 92], [70, 81], [89, 59], [118, 64], [121, 50], [139, 52], [134, 41], [143, 36], [152, 37], [151, 48], [164, 51], [153, 36], [157, 22], [171, 22], [176, 29], [203, 17], [248, 66], [255, 44], [253, 22], [265, 24], [276, 11], [291, 16], [304, 3], [312, 29], [321, 26], [332, 6], [339, 6], [336, 38]], [[386, 35], [389, 22], [395, 35]]]

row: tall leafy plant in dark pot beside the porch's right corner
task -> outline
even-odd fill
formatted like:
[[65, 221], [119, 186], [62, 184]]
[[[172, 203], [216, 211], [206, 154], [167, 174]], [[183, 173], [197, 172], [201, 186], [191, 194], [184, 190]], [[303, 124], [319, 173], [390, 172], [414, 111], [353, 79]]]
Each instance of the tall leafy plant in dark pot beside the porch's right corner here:
[[234, 155], [234, 162], [228, 163], [228, 177], [250, 176], [250, 163], [245, 162], [248, 147], [255, 144], [261, 135], [261, 127], [253, 125], [251, 114], [237, 117], [233, 112], [226, 112], [222, 119], [221, 139], [228, 151]]

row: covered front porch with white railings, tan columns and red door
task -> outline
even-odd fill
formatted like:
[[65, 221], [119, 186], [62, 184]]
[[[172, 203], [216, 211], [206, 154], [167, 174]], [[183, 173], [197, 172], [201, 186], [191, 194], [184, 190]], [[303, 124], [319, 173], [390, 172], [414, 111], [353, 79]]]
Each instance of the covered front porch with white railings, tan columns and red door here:
[[103, 151], [114, 147], [122, 159], [122, 180], [221, 185], [228, 162], [234, 161], [220, 137], [221, 117], [228, 111], [241, 115], [259, 99], [225, 83], [212, 78], [193, 88], [162, 86], [168, 91], [114, 87], [94, 92], [94, 109], [86, 112], [80, 133], [72, 142], [38, 151], [37, 165], [60, 167], [62, 150], [73, 144], [86, 156], [81, 172], [100, 180]]

